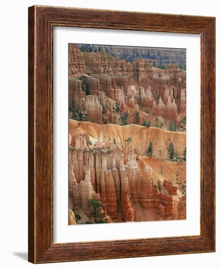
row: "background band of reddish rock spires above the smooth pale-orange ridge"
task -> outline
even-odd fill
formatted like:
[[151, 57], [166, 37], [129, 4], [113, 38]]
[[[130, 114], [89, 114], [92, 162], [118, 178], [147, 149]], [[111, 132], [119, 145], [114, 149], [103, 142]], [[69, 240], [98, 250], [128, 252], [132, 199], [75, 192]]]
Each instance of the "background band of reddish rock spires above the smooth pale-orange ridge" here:
[[[160, 116], [161, 128], [164, 129], [168, 128], [169, 120], [177, 122], [180, 113], [185, 116], [186, 74], [177, 64], [169, 63], [168, 69], [159, 69], [147, 59], [138, 58], [130, 63], [107, 51], [105, 48], [98, 52], [81, 52], [77, 45], [70, 45], [70, 118], [93, 119], [93, 122], [102, 124], [112, 123], [115, 117], [115, 124], [124, 125], [121, 114], [127, 112], [126, 122], [132, 124], [136, 123], [136, 104], [145, 120], [152, 119], [150, 114]], [[160, 53], [164, 55], [163, 51]], [[173, 55], [171, 53], [168, 51], [165, 55]], [[110, 108], [119, 106], [116, 103], [120, 104], [120, 109], [114, 109], [109, 119]], [[142, 122], [136, 124], [141, 125]]]

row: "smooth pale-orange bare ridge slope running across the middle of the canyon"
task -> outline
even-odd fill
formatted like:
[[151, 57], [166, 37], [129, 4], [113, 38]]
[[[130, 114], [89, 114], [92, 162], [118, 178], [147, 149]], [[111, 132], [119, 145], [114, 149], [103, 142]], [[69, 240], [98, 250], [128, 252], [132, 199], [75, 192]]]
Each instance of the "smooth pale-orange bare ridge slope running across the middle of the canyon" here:
[[125, 126], [115, 124], [96, 124], [88, 121], [78, 122], [69, 119], [69, 133], [88, 133], [91, 137], [97, 139], [98, 134], [108, 134], [110, 138], [119, 139], [124, 147], [125, 140], [132, 137], [133, 146], [138, 150], [141, 156], [146, 155], [150, 141], [153, 141], [154, 157], [167, 158], [167, 147], [172, 141], [177, 153], [183, 156], [186, 146], [186, 134], [183, 132], [170, 132], [155, 127], [145, 127], [137, 124], [129, 124]]

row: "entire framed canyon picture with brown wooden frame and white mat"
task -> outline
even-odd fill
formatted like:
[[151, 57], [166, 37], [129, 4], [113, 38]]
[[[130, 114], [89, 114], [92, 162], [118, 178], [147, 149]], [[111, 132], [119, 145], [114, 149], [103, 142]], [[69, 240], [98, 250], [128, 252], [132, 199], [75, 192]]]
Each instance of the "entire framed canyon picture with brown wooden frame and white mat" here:
[[215, 251], [215, 18], [29, 7], [32, 263]]

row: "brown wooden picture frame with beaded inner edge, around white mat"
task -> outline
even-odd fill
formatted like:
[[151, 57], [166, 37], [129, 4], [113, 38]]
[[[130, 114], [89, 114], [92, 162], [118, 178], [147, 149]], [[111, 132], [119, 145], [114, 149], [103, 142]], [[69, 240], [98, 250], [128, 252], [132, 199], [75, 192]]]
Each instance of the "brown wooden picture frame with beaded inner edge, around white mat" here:
[[[28, 19], [28, 260], [32, 263], [215, 251], [215, 18], [32, 6]], [[200, 235], [53, 243], [53, 27], [200, 35]]]

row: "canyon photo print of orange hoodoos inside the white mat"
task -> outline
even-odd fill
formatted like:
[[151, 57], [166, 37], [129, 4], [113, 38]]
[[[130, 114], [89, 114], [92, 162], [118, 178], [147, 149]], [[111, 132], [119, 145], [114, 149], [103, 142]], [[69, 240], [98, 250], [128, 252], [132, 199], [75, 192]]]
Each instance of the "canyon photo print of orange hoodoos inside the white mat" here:
[[68, 46], [68, 224], [185, 220], [186, 49]]

